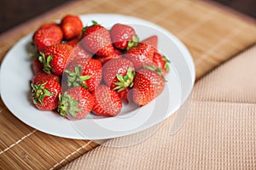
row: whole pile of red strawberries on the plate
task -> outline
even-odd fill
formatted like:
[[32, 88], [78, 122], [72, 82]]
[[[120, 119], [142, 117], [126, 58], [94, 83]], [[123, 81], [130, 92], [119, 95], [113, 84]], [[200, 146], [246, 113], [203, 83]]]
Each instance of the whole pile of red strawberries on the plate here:
[[158, 38], [139, 41], [131, 26], [110, 30], [78, 16], [47, 23], [34, 32], [38, 54], [32, 60], [32, 100], [39, 110], [57, 111], [70, 120], [90, 112], [116, 116], [123, 105], [146, 105], [164, 89], [168, 60]]

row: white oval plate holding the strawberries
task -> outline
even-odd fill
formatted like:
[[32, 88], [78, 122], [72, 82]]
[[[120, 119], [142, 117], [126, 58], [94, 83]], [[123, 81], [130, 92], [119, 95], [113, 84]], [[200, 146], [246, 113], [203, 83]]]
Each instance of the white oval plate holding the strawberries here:
[[195, 66], [189, 51], [177, 37], [160, 26], [131, 16], [119, 14], [86, 14], [80, 16], [84, 26], [96, 20], [102, 26], [115, 23], [129, 24], [138, 37], [157, 35], [159, 50], [171, 60], [171, 71], [164, 92], [148, 105], [135, 109], [126, 106], [114, 117], [88, 116], [84, 120], [69, 121], [53, 111], [39, 111], [30, 99], [32, 80], [31, 59], [27, 47], [32, 34], [20, 39], [9, 50], [1, 66], [1, 96], [4, 104], [27, 125], [69, 139], [111, 139], [137, 133], [171, 116], [188, 98], [195, 82]]

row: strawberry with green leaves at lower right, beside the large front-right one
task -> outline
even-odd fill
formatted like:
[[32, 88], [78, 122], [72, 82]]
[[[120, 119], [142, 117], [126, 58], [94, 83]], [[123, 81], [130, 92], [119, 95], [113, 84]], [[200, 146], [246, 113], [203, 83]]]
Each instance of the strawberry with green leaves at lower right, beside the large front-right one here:
[[[128, 59], [111, 59], [103, 67], [103, 79], [111, 89], [119, 93], [133, 85], [134, 66]], [[127, 93], [126, 93], [127, 94]], [[122, 95], [126, 100], [126, 96]]]

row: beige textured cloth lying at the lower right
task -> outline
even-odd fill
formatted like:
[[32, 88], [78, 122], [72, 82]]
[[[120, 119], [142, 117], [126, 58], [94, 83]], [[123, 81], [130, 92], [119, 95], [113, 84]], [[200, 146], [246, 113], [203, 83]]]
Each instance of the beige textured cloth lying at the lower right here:
[[255, 74], [256, 46], [196, 82], [177, 133], [171, 117], [143, 142], [99, 146], [63, 169], [256, 169]]

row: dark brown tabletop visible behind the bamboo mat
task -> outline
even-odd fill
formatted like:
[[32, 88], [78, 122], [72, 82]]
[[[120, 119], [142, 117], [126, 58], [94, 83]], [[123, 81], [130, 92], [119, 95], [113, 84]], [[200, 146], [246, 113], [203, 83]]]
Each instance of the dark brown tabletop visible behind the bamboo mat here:
[[[3, 6], [0, 10], [0, 34], [4, 31], [8, 31], [14, 26], [30, 20], [39, 14], [47, 12], [49, 9], [60, 6], [63, 3], [70, 2], [72, 0], [20, 0], [16, 1], [3, 0]], [[228, 8], [233, 8], [242, 14], [247, 14], [253, 18], [256, 18], [256, 1], [255, 0], [208, 0], [213, 3], [219, 3]], [[20, 6], [20, 4], [25, 4]]]

